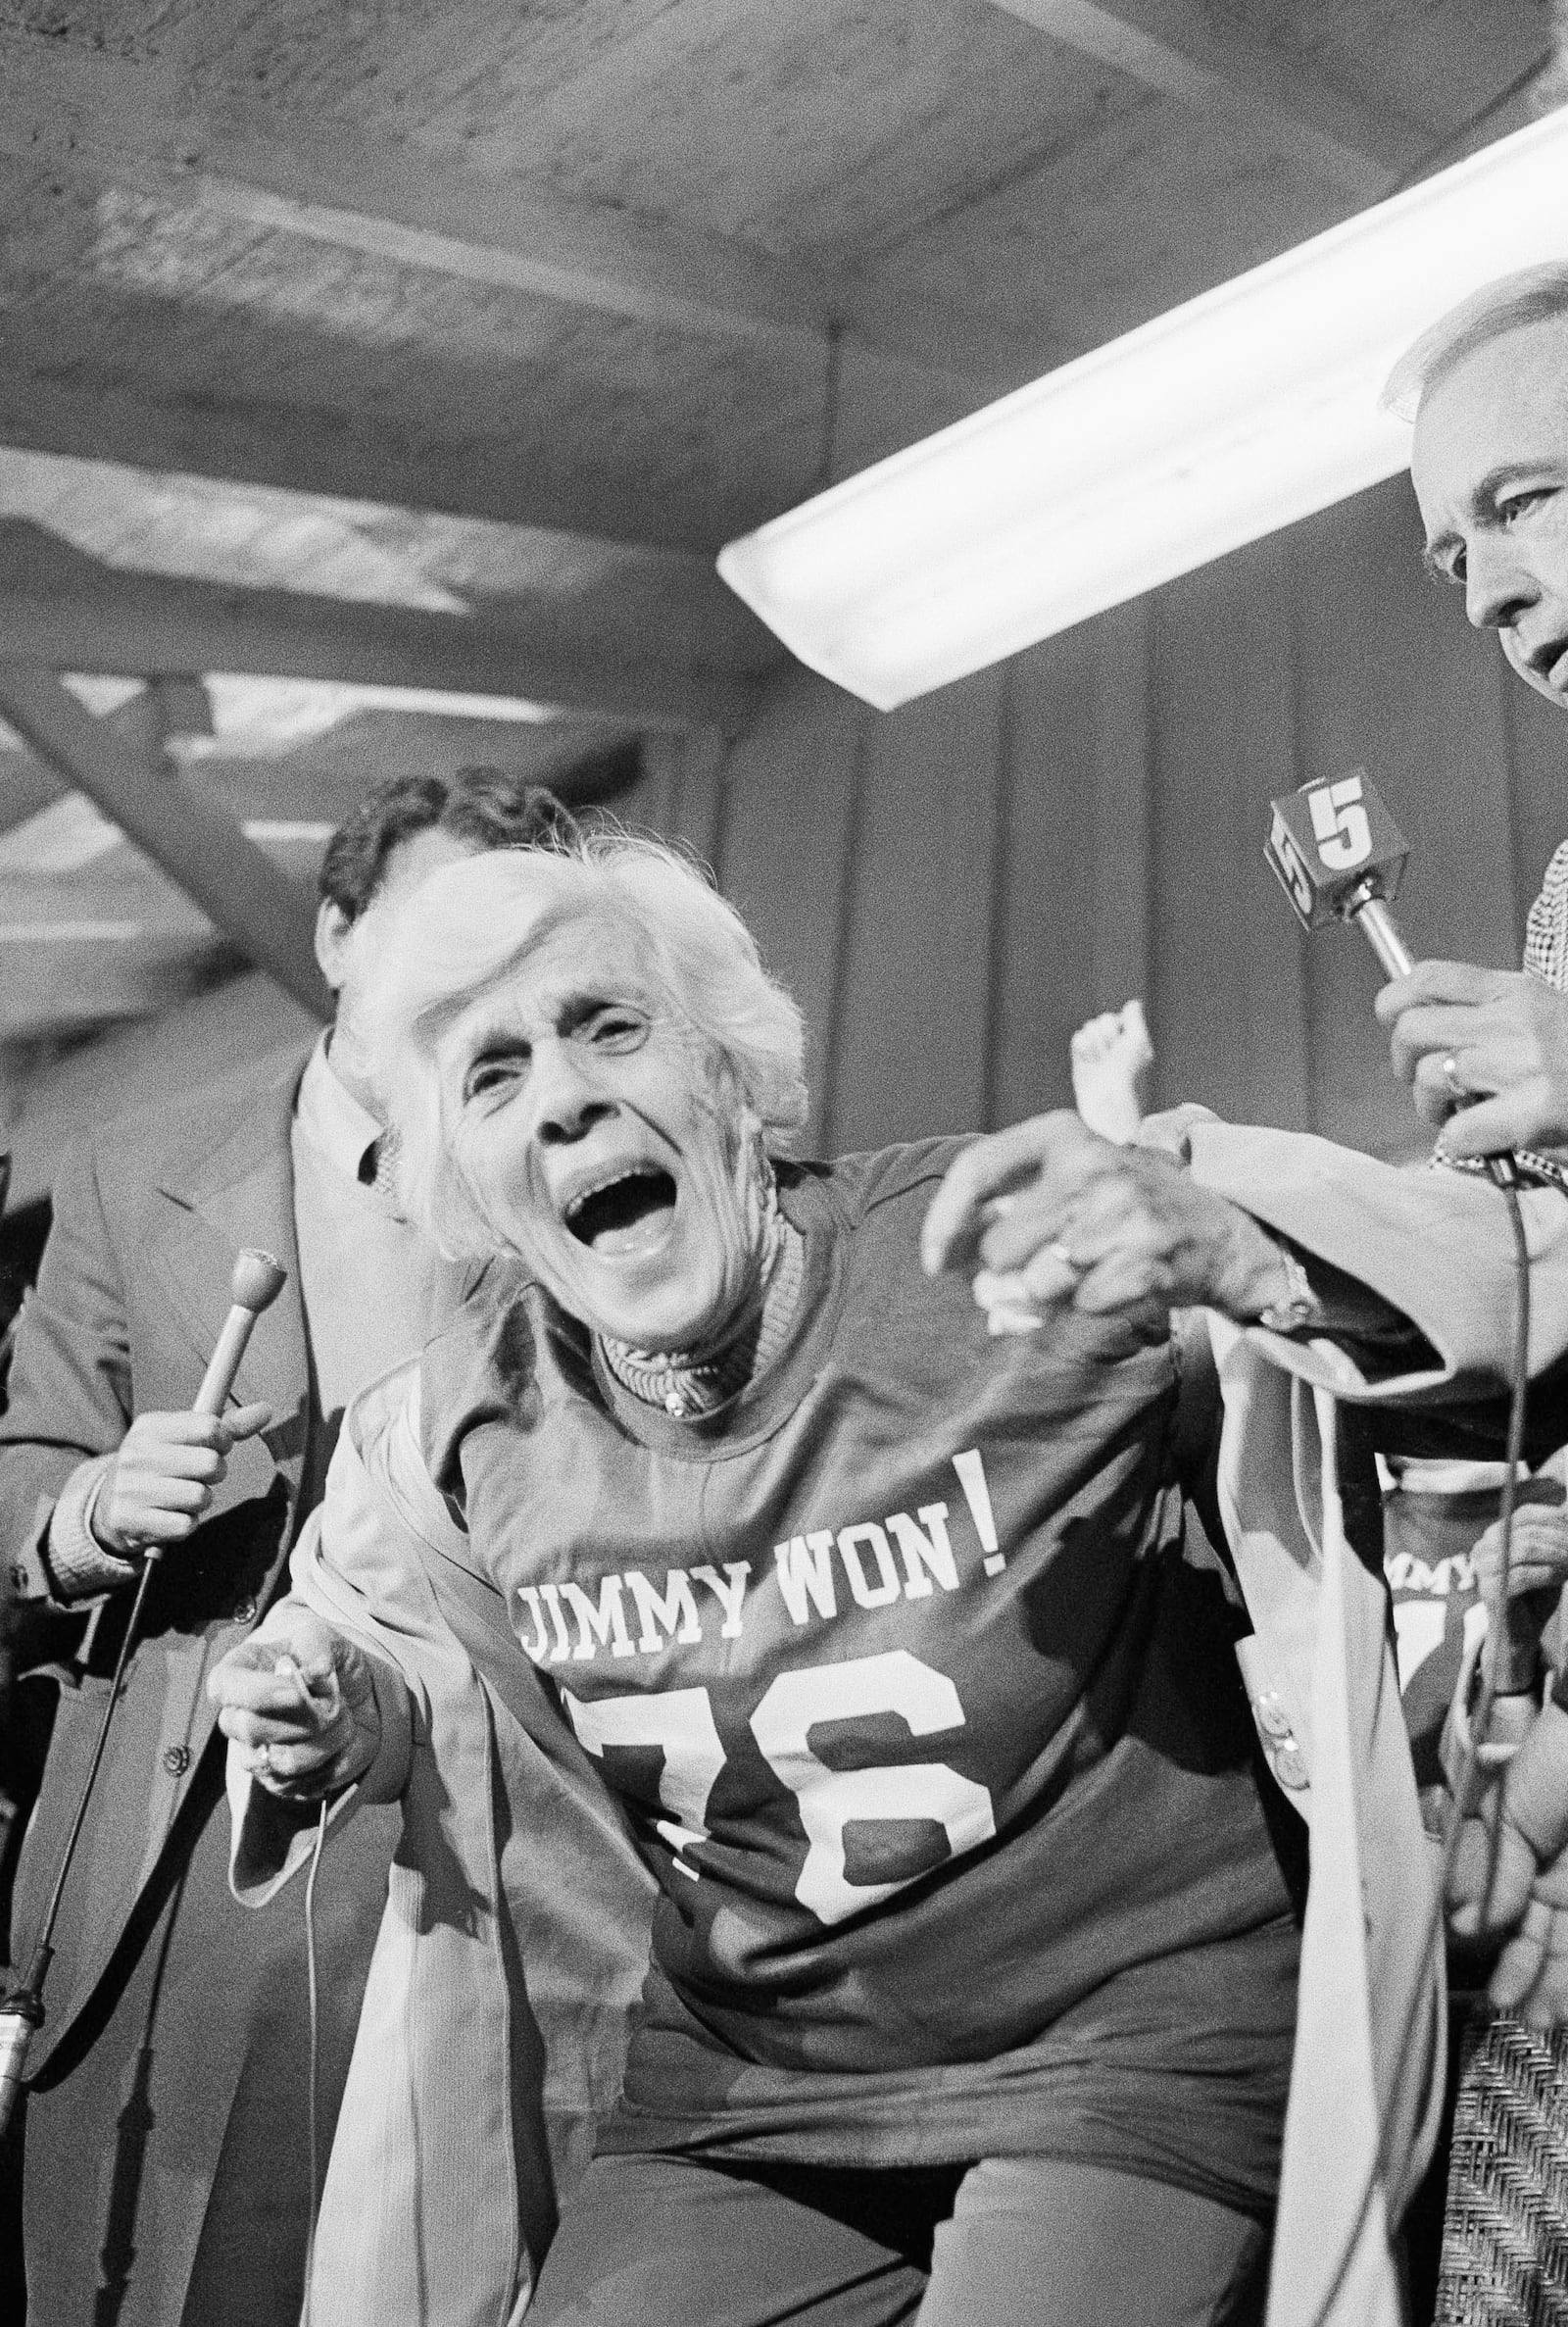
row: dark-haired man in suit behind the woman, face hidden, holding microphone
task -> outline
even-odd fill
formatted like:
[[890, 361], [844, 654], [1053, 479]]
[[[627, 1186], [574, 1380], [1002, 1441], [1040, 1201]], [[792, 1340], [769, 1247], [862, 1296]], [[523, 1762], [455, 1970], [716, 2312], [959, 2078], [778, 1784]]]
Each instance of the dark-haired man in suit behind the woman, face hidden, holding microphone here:
[[[84, 1140], [54, 1191], [0, 1422], [0, 1545], [21, 1601], [77, 1615], [16, 1883], [28, 1964], [123, 1638], [137, 1550], [163, 1543], [112, 1748], [54, 1934], [26, 2108], [33, 2327], [293, 2327], [312, 2208], [398, 1836], [365, 1810], [316, 1913], [228, 1897], [216, 1659], [284, 1589], [347, 1401], [456, 1301], [391, 1210], [356, 1045], [361, 917], [451, 856], [565, 812], [491, 768], [372, 794], [321, 870], [335, 1024]], [[384, 1175], [382, 1175], [384, 1177]], [[191, 1415], [237, 1250], [288, 1282], [221, 1422]], [[312, 2059], [314, 2052], [314, 2059]], [[314, 2080], [314, 2097], [312, 2097]], [[314, 2101], [314, 2120], [312, 2120]]]

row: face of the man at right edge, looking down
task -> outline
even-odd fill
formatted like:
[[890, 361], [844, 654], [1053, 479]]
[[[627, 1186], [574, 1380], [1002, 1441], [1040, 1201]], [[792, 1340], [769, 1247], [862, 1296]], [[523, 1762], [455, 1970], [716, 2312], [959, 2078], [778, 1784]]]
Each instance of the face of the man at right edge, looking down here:
[[1535, 693], [1568, 705], [1568, 319], [1461, 356], [1421, 398], [1426, 561]]

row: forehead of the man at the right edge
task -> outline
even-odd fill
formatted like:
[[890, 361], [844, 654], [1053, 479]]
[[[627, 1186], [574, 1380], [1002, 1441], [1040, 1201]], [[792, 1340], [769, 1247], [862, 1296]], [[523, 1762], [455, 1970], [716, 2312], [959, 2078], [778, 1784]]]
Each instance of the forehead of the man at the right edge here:
[[1568, 316], [1519, 323], [1442, 365], [1414, 424], [1421, 507], [1461, 510], [1503, 468], [1568, 461]]

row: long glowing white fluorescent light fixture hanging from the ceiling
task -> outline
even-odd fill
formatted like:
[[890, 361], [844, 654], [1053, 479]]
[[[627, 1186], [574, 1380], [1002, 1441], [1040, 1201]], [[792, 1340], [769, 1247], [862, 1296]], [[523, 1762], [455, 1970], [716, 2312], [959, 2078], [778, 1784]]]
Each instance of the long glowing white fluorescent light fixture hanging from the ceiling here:
[[893, 710], [1405, 468], [1396, 358], [1568, 258], [1568, 112], [1047, 372], [730, 542], [719, 572]]

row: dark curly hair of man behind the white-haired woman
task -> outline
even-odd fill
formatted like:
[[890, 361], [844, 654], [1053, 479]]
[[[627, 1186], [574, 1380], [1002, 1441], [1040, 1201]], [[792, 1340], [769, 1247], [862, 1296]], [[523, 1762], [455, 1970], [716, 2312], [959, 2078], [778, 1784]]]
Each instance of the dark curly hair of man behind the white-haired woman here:
[[577, 838], [577, 819], [544, 784], [505, 768], [400, 775], [377, 784], [326, 845], [321, 896], [358, 921], [386, 877], [386, 861], [419, 833], [451, 833], [475, 849], [523, 849]]

